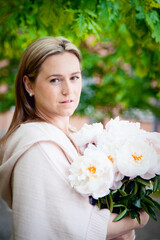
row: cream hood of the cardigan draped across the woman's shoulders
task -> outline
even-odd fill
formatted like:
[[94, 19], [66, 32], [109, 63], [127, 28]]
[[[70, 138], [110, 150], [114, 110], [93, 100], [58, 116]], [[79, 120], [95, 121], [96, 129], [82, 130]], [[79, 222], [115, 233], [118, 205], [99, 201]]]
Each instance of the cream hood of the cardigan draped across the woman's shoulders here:
[[19, 157], [38, 142], [52, 142], [70, 158], [77, 154], [69, 138], [59, 128], [46, 122], [29, 122], [21, 124], [7, 140], [4, 161], [13, 155]]

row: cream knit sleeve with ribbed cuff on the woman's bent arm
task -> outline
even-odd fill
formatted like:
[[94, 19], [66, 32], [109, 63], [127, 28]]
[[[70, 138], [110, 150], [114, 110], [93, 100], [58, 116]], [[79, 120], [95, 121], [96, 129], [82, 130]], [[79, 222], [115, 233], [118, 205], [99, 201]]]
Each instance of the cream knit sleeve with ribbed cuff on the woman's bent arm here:
[[36, 143], [21, 156], [12, 179], [13, 239], [106, 239], [110, 212], [71, 188], [69, 166], [52, 142]]

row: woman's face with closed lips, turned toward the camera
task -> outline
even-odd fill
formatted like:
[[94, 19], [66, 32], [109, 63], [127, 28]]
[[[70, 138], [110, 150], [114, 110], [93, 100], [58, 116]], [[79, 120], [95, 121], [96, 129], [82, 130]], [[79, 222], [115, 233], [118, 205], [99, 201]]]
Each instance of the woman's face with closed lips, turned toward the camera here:
[[69, 117], [81, 94], [81, 66], [69, 52], [48, 57], [33, 84], [36, 110], [46, 119]]

